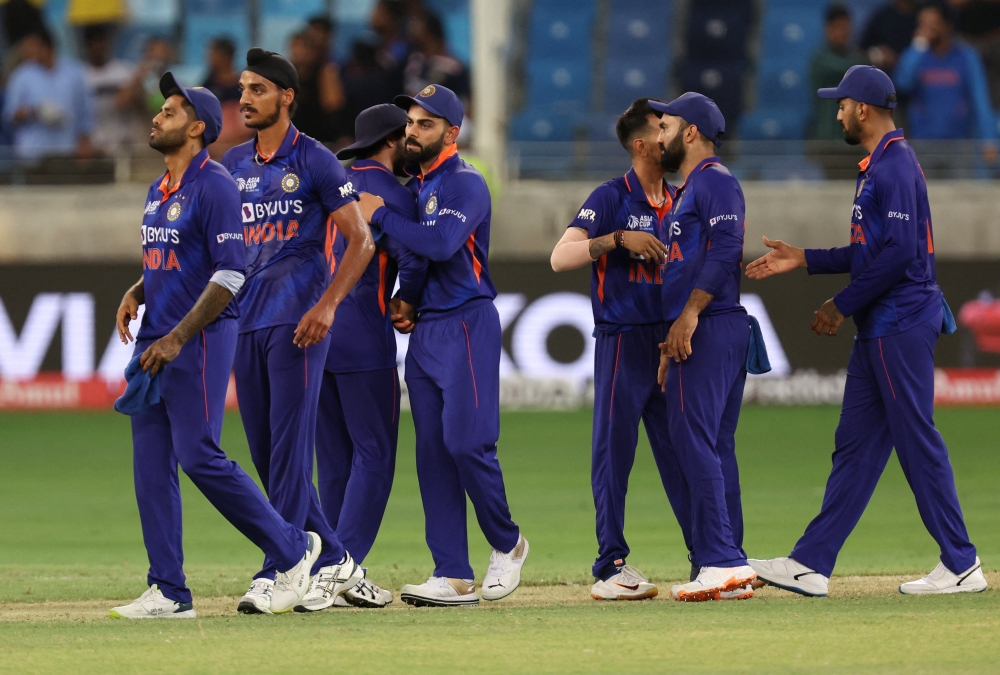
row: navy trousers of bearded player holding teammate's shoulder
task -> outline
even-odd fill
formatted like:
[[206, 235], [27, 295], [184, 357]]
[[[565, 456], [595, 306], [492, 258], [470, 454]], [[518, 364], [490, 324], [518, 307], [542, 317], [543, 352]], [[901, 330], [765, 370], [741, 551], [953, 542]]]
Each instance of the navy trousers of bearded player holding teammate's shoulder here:
[[434, 575], [472, 579], [465, 495], [495, 549], [517, 546], [497, 459], [500, 317], [490, 300], [422, 315], [406, 354], [417, 478]]

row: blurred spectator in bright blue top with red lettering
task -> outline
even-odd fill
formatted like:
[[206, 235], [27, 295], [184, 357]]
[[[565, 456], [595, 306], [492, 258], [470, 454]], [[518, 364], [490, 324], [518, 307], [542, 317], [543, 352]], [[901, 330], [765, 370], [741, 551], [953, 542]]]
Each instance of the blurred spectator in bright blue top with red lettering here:
[[985, 141], [983, 157], [997, 159], [996, 129], [979, 54], [955, 39], [955, 19], [944, 4], [920, 11], [913, 44], [893, 74], [896, 90], [910, 95], [908, 136]]

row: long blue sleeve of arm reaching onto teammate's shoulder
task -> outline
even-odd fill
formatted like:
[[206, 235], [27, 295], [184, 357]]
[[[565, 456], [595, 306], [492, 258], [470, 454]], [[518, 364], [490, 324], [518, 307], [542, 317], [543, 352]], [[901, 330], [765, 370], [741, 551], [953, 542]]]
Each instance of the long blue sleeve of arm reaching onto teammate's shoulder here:
[[458, 253], [490, 210], [490, 193], [481, 177], [455, 173], [442, 182], [433, 225], [414, 222], [386, 207], [372, 223], [418, 255], [444, 261]]

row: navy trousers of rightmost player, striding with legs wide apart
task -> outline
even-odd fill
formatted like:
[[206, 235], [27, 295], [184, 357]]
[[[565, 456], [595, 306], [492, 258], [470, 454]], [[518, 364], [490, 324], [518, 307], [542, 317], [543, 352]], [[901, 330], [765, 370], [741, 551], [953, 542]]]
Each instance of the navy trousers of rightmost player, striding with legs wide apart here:
[[825, 576], [833, 573], [893, 447], [920, 517], [941, 547], [941, 562], [956, 574], [975, 564], [948, 448], [934, 428], [934, 345], [940, 330], [938, 316], [898, 335], [855, 339], [823, 507], [790, 554], [803, 565]]

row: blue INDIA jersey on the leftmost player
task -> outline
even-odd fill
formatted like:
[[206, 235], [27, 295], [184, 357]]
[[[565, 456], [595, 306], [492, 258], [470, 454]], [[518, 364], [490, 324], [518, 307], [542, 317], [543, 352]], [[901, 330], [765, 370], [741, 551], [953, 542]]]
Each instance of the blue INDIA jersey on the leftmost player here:
[[[240, 193], [229, 173], [202, 150], [173, 189], [169, 179], [164, 174], [149, 187], [142, 218], [146, 311], [140, 340], [172, 331], [215, 272], [246, 269]], [[237, 303], [230, 302], [219, 319], [236, 316]]]

